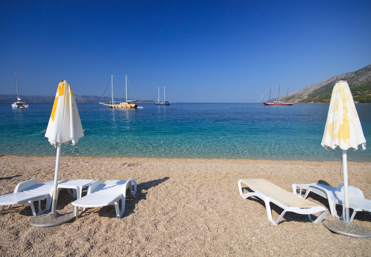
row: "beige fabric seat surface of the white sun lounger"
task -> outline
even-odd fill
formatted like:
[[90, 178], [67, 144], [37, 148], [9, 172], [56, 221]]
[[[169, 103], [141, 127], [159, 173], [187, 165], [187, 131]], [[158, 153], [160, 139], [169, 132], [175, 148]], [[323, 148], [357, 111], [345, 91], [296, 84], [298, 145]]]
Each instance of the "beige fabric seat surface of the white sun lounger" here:
[[318, 206], [312, 202], [309, 202], [308, 200], [300, 198], [293, 193], [286, 191], [285, 189], [280, 188], [279, 186], [276, 186], [265, 179], [242, 179], [241, 182], [247, 185], [253, 191], [267, 195], [271, 199], [289, 207], [312, 208]]

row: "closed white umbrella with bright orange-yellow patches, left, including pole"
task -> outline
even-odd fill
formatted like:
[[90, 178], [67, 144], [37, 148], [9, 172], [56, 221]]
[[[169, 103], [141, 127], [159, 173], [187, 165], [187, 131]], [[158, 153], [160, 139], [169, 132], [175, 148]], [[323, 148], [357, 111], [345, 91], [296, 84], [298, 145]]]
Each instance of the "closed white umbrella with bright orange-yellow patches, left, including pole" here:
[[72, 88], [65, 80], [58, 85], [45, 136], [49, 139], [50, 144], [57, 148], [52, 201], [52, 213], [55, 213], [60, 146], [61, 144], [67, 145], [69, 141], [72, 141], [72, 145], [75, 145], [79, 138], [84, 136]]

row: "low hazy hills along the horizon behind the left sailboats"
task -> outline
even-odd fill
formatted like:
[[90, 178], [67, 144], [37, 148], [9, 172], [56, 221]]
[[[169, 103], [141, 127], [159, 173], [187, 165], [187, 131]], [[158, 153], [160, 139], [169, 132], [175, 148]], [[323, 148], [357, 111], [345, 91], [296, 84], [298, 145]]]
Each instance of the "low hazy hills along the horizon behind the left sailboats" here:
[[[22, 101], [26, 103], [53, 103], [55, 95], [19, 95]], [[15, 95], [0, 95], [0, 103], [13, 103], [16, 101]], [[75, 95], [76, 103], [98, 103], [101, 97], [94, 95]], [[132, 99], [128, 99], [132, 100]], [[106, 103], [111, 101], [109, 97], [103, 97], [102, 102]], [[125, 101], [124, 98], [115, 98], [115, 101]], [[154, 103], [152, 100], [138, 100], [145, 103]]]

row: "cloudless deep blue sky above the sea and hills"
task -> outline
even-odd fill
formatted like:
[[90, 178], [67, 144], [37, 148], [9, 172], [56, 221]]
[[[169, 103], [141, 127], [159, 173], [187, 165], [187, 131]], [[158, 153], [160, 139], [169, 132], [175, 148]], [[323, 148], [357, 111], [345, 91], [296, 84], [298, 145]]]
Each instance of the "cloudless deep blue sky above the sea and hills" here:
[[[256, 102], [371, 64], [371, 1], [0, 1], [0, 94]], [[160, 89], [160, 90], [161, 90]], [[161, 92], [161, 95], [163, 93]], [[282, 93], [281, 93], [282, 94]], [[105, 95], [109, 95], [109, 92]], [[129, 94], [130, 96], [130, 94]], [[161, 99], [160, 99], [161, 100]]]

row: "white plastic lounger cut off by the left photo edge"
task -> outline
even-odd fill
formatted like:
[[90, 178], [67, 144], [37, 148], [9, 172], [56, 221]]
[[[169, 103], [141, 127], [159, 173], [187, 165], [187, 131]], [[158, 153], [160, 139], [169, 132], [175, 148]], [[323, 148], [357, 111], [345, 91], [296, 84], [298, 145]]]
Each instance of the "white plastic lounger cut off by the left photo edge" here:
[[[58, 183], [66, 182], [67, 180], [58, 181]], [[0, 212], [10, 208], [12, 204], [30, 204], [33, 216], [43, 214], [49, 211], [50, 203], [52, 202], [54, 181], [37, 184], [36, 179], [30, 179], [19, 183], [14, 189], [14, 193], [0, 196]], [[41, 209], [41, 200], [46, 199], [45, 209]], [[39, 201], [39, 211], [36, 213], [34, 201]], [[6, 206], [8, 205], [8, 206]]]

